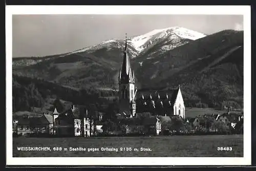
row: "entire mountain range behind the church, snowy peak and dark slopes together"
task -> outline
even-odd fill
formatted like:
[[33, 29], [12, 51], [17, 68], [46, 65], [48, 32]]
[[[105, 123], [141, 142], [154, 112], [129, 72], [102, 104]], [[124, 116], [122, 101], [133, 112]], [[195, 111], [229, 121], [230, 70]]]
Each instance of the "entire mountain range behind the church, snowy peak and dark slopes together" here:
[[[241, 104], [243, 31], [206, 36], [172, 27], [129, 37], [127, 43], [137, 88], [168, 89], [180, 84], [187, 104], [199, 99], [210, 105]], [[15, 58], [13, 74], [66, 87], [116, 89], [124, 44], [125, 40], [111, 39], [32, 61]]]

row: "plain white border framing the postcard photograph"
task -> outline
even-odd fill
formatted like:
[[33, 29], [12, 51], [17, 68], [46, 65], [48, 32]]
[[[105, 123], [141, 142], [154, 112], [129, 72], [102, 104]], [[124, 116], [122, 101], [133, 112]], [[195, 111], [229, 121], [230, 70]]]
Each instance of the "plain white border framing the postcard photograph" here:
[[[12, 157], [12, 14], [237, 14], [244, 16], [244, 157]], [[6, 6], [7, 165], [250, 165], [250, 6]], [[100, 161], [100, 163], [99, 163]]]

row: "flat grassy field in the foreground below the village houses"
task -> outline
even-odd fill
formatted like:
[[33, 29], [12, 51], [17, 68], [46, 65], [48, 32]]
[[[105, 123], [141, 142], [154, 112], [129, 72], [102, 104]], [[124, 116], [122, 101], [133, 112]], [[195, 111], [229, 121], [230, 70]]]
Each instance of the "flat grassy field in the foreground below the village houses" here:
[[[29, 146], [50, 147], [51, 151], [18, 151], [17, 149], [17, 147]], [[56, 147], [61, 147], [61, 151], [56, 151]], [[82, 147], [86, 148], [86, 151], [70, 151], [70, 147]], [[103, 151], [101, 147], [111, 148], [112, 151]], [[218, 147], [232, 147], [232, 150], [218, 151]], [[67, 148], [67, 151], [64, 148]], [[88, 152], [88, 148], [94, 148], [94, 151], [91, 149]], [[118, 149], [118, 151], [113, 151], [113, 148]], [[121, 148], [125, 148], [125, 151], [120, 151]], [[141, 148], [145, 149], [141, 151]], [[243, 135], [96, 138], [16, 137], [13, 138], [13, 157], [243, 157]]]

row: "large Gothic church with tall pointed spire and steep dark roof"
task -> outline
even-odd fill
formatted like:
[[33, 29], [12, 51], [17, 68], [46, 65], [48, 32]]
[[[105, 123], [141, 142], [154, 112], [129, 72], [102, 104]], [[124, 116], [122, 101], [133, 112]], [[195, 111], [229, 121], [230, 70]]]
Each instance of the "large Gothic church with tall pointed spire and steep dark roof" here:
[[180, 86], [168, 90], [136, 89], [127, 38], [125, 39], [123, 63], [121, 70], [119, 70], [118, 84], [120, 114], [136, 117], [137, 113], [150, 112], [158, 116], [178, 115], [183, 119], [185, 118], [185, 106]]

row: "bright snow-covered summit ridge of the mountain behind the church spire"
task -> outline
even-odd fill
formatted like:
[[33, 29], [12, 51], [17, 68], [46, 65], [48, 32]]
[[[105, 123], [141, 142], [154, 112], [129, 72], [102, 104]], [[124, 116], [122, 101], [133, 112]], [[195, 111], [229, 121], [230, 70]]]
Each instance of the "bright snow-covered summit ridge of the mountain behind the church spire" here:
[[[136, 57], [139, 53], [146, 50], [148, 47], [157, 44], [161, 40], [168, 38], [172, 40], [179, 40], [179, 39], [190, 39], [190, 40], [196, 40], [202, 37], [205, 37], [206, 35], [189, 30], [182, 27], [169, 27], [165, 29], [155, 29], [153, 31], [147, 32], [142, 35], [133, 36], [127, 38], [127, 44], [132, 48], [130, 52], [132, 52], [131, 57]], [[66, 56], [73, 53], [81, 53], [81, 52], [92, 52], [95, 50], [98, 50], [100, 48], [108, 48], [111, 49], [113, 47], [116, 48], [123, 48], [123, 44], [125, 43], [125, 39], [118, 40], [118, 39], [109, 39], [106, 41], [102, 41], [99, 44], [83, 48], [80, 50], [76, 50], [74, 52], [64, 54], [62, 56]], [[167, 49], [173, 49], [175, 47], [178, 47], [182, 45], [181, 43], [178, 43], [177, 46], [174, 45], [165, 45], [162, 50]]]

